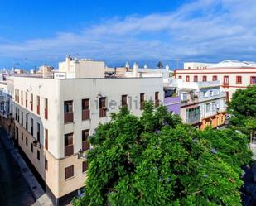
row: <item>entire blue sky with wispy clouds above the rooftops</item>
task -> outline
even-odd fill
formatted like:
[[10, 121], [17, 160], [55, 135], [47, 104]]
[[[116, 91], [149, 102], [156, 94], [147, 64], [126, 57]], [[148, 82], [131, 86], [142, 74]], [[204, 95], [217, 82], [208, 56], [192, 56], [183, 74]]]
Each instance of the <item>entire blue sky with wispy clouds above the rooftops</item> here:
[[107, 65], [256, 61], [256, 1], [2, 0], [0, 68], [54, 65], [65, 55]]

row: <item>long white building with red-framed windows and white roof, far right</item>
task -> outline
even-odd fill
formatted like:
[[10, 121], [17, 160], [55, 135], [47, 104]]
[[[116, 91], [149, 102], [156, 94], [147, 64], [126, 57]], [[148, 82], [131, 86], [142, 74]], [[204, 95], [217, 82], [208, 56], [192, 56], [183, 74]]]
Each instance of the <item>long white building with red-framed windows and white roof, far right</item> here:
[[[205, 64], [205, 65], [204, 65]], [[256, 63], [225, 60], [218, 64], [185, 63], [184, 69], [175, 71], [176, 79], [186, 82], [220, 81], [226, 98], [230, 100], [236, 89], [256, 84]]]

